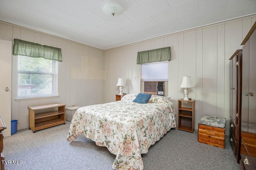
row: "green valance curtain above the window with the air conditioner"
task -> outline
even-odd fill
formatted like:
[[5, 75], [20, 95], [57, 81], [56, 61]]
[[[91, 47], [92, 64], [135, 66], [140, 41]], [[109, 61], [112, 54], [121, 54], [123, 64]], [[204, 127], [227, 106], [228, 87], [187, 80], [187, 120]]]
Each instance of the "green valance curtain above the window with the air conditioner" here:
[[171, 47], [140, 51], [137, 55], [137, 64], [171, 60]]

